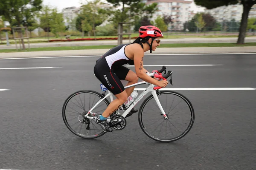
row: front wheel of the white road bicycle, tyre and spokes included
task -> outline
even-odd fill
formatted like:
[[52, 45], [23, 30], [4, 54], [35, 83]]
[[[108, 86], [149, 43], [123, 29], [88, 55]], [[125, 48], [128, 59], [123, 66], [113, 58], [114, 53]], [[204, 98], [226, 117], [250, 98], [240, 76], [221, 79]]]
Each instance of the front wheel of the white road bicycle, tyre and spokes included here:
[[[138, 119], [143, 132], [159, 142], [174, 142], [183, 138], [192, 128], [194, 108], [183, 94], [175, 91], [160, 91], [157, 95], [168, 120], [161, 115], [154, 96], [148, 96], [140, 106]], [[168, 132], [169, 130], [169, 132]]]

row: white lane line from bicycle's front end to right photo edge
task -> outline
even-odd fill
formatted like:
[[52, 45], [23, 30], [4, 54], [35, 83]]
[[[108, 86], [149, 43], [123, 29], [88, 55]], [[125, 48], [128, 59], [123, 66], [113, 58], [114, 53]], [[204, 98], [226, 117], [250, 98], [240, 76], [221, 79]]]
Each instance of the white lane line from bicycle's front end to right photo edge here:
[[[137, 91], [144, 91], [146, 88], [134, 88]], [[232, 90], [256, 90], [256, 88], [160, 88], [161, 90], [172, 91], [232, 91]]]

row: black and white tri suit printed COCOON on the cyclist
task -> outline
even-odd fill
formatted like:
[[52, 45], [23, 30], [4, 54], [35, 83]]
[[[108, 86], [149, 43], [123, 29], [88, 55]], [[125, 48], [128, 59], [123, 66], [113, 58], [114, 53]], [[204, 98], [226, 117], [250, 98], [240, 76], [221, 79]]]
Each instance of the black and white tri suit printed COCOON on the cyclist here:
[[125, 47], [128, 44], [111, 48], [101, 58], [97, 59], [94, 66], [94, 74], [113, 94], [119, 94], [125, 90], [122, 82], [128, 74], [125, 64], [134, 65], [134, 60], [125, 55]]

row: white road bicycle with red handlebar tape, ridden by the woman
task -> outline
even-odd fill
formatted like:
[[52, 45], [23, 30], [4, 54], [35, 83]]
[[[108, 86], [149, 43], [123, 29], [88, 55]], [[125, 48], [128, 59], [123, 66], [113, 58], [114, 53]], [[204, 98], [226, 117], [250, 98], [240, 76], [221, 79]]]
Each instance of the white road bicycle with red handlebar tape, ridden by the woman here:
[[[164, 74], [162, 75], [163, 71]], [[167, 80], [167, 78], [170, 77], [169, 82], [172, 84], [172, 73], [172, 71], [168, 71], [166, 74], [166, 66], [163, 66], [162, 69], [154, 70], [152, 73], [147, 73], [147, 75], [157, 80]], [[145, 88], [145, 90], [142, 90], [142, 93], [134, 99], [128, 108], [122, 108], [121, 106], [107, 118], [110, 127], [113, 129], [113, 132], [111, 133], [114, 133], [114, 130], [123, 130], [126, 127], [126, 119], [132, 114], [135, 114], [130, 112], [131, 109], [150, 93], [151, 94], [142, 102], [138, 111], [138, 121], [143, 132], [149, 138], [159, 142], [174, 142], [189, 133], [194, 124], [195, 113], [192, 103], [186, 96], [176, 91], [163, 90], [164, 88], [161, 89], [161, 87], [145, 81], [125, 86], [125, 89], [137, 85], [148, 85], [148, 87]], [[68, 96], [62, 107], [62, 117], [65, 125], [72, 133], [81, 138], [94, 139], [106, 133], [100, 125], [96, 124], [95, 119], [97, 116], [101, 115], [110, 104], [107, 98], [109, 97], [110, 101], [113, 101], [115, 96], [108, 91], [104, 85], [101, 84], [100, 87], [102, 93], [92, 90], [76, 91]], [[108, 94], [106, 94], [106, 92], [108, 92]], [[173, 99], [167, 97], [173, 97]], [[160, 99], [163, 99], [163, 101], [160, 102]], [[175, 105], [175, 99], [178, 99], [177, 105], [184, 102], [185, 107]], [[84, 103], [82, 100], [84, 100]], [[78, 102], [78, 104], [75, 104], [74, 102]], [[88, 103], [85, 104], [85, 102]], [[69, 104], [73, 105], [73, 107], [71, 108]], [[172, 105], [174, 105], [173, 108]], [[173, 111], [175, 108], [177, 109], [176, 112]], [[184, 117], [177, 114], [179, 112], [184, 113], [184, 108], [189, 112], [184, 114], [187, 116], [186, 120]], [[156, 110], [154, 111], [154, 109]], [[68, 114], [69, 112], [70, 114]], [[69, 115], [74, 115], [74, 118], [67, 119]], [[182, 120], [184, 122], [175, 124], [175, 120]], [[158, 125], [156, 129], [151, 126], [154, 126], [159, 121], [161, 122], [161, 128], [158, 131], [156, 129], [160, 127], [160, 125]], [[166, 125], [166, 131], [162, 130], [164, 124]], [[75, 126], [72, 127], [73, 125]], [[184, 127], [182, 127], [183, 125]], [[79, 130], [75, 130], [75, 128]], [[167, 128], [171, 130], [171, 133], [167, 133]], [[91, 131], [96, 131], [96, 133], [89, 134]], [[174, 132], [177, 132], [178, 135], [174, 135]], [[162, 137], [163, 134], [165, 134], [166, 137]]]

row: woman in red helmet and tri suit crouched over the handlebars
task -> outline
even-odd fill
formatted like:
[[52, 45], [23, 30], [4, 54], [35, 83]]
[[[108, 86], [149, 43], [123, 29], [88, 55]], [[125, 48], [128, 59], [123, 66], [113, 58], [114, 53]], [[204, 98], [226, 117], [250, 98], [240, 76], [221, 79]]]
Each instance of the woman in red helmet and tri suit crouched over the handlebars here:
[[[137, 83], [139, 78], [160, 87], [166, 87], [168, 84], [166, 80], [158, 81], [149, 77], [146, 74], [148, 71], [143, 68], [144, 53], [148, 50], [150, 53], [155, 51], [160, 45], [162, 36], [160, 29], [155, 26], [141, 26], [139, 37], [134, 42], [118, 45], [97, 59], [94, 66], [95, 76], [116, 96], [116, 99], [108, 105], [102, 115], [96, 118], [96, 123], [101, 125], [105, 132], [112, 132], [106, 118], [121, 105], [125, 108], [123, 104], [135, 88], [134, 86], [124, 89], [120, 80], [128, 81], [127, 85]], [[135, 73], [123, 66], [125, 64], [134, 65]], [[135, 113], [137, 109], [132, 109], [131, 112]]]

